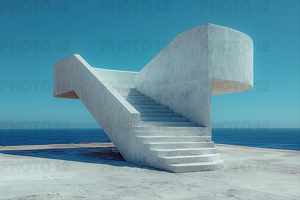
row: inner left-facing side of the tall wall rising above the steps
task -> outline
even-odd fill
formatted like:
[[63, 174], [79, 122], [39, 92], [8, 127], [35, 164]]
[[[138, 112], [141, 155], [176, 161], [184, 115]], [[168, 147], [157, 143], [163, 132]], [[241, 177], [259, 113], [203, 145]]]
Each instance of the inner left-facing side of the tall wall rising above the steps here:
[[168, 44], [168, 51], [159, 52], [134, 80], [149, 82], [150, 89], [142, 88], [142, 84], [137, 89], [203, 125], [204, 121], [210, 121], [211, 94], [206, 87], [208, 52], [201, 49], [200, 41], [207, 41], [207, 25], [178, 34]]

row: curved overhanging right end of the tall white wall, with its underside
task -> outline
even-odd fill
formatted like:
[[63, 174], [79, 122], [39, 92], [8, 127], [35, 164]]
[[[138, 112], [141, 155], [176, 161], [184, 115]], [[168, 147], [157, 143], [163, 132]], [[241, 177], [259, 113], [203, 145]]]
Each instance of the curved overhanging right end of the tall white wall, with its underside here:
[[[253, 87], [253, 41], [240, 31], [208, 24], [208, 77], [212, 95]], [[229, 85], [230, 84], [230, 85]], [[214, 86], [213, 86], [214, 85]]]

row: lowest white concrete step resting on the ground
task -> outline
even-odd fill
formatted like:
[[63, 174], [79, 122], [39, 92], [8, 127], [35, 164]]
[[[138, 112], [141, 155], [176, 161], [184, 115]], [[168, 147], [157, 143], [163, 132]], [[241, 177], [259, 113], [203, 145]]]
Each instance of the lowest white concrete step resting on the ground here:
[[165, 169], [175, 173], [216, 170], [221, 168], [222, 162], [223, 160], [215, 160], [197, 163], [167, 164]]

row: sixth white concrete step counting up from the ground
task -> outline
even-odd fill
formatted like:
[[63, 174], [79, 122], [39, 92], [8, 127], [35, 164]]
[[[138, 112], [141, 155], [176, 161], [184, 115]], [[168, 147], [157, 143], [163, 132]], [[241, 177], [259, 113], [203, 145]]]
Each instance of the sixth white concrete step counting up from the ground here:
[[136, 136], [210, 136], [210, 131], [135, 131], [135, 135]]

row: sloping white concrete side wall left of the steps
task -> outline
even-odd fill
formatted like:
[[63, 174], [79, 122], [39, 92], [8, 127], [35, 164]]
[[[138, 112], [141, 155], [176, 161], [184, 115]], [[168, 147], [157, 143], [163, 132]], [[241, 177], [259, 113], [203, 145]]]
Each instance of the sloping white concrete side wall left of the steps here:
[[53, 80], [59, 85], [67, 84], [54, 87], [53, 95], [63, 97], [74, 91], [125, 160], [143, 159], [145, 155], [136, 151], [139, 147], [132, 126], [140, 121], [140, 113], [80, 55], [72, 54], [55, 62]]

